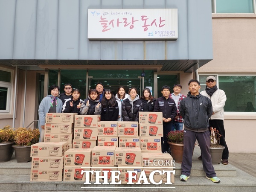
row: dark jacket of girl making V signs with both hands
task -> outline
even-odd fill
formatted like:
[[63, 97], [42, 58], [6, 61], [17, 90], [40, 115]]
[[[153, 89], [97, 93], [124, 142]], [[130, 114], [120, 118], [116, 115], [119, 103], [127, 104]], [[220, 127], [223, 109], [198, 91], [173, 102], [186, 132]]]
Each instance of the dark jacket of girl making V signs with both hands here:
[[[89, 100], [89, 106], [86, 105], [87, 101]], [[90, 96], [88, 96], [87, 99], [84, 99], [81, 108], [80, 108], [80, 114], [81, 115], [100, 115], [101, 114], [101, 105], [99, 105], [99, 108], [96, 108], [96, 105], [98, 105], [99, 100], [92, 100]]]

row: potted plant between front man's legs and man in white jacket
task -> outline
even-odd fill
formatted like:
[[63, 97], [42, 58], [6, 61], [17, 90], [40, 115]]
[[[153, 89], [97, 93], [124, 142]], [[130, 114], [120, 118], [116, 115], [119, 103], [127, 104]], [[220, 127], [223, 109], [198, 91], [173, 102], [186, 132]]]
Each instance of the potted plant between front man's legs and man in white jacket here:
[[219, 164], [221, 163], [222, 152], [224, 150], [224, 146], [220, 144], [221, 134], [216, 128], [209, 128], [211, 132], [211, 144], [210, 144], [210, 152], [212, 157], [212, 164]]

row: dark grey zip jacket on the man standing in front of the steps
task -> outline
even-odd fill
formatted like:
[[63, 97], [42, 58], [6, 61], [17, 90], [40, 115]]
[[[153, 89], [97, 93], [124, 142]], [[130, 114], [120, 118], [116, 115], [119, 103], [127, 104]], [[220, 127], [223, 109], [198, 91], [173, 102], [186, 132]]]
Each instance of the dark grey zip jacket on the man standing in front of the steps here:
[[185, 127], [191, 129], [208, 129], [209, 117], [212, 115], [212, 102], [206, 96], [188, 96], [180, 102], [180, 115], [184, 119]]

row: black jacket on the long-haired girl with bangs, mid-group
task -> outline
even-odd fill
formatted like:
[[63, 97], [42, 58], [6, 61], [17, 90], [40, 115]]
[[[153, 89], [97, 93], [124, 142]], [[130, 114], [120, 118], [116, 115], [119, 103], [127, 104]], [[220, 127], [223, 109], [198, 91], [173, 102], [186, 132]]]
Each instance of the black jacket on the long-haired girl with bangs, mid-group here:
[[107, 105], [105, 108], [102, 107], [102, 113], [100, 115], [101, 121], [117, 121], [118, 118], [118, 104], [116, 102], [116, 105], [111, 107]]

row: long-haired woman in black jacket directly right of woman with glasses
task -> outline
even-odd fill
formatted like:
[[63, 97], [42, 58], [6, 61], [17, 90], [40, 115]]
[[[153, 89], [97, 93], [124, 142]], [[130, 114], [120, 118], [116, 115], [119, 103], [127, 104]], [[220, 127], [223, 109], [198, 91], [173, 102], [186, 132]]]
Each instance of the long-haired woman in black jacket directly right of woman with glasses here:
[[153, 111], [156, 99], [151, 95], [150, 89], [145, 88], [140, 100], [143, 102], [143, 111]]

